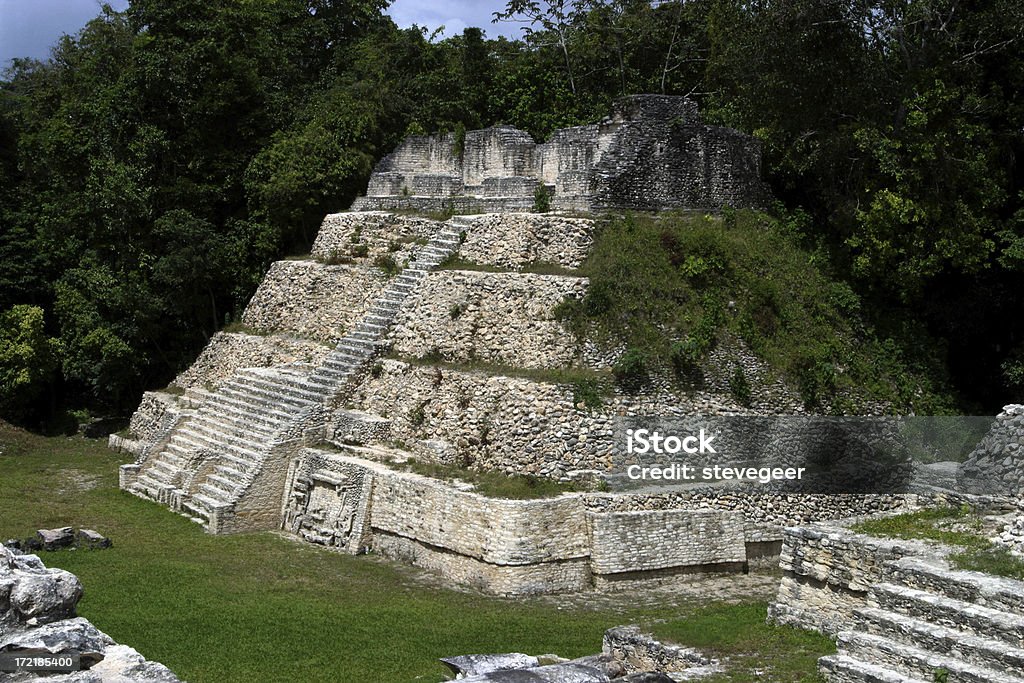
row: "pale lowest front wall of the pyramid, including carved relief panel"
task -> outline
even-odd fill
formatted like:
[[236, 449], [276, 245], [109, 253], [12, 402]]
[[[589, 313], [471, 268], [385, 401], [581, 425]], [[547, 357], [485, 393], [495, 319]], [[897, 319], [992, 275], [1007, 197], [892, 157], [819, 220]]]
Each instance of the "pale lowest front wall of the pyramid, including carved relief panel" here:
[[291, 467], [283, 526], [312, 543], [348, 552], [369, 547], [500, 594], [580, 591], [745, 566], [738, 513], [602, 512], [589, 509], [587, 499], [490, 499], [352, 455], [307, 449]]

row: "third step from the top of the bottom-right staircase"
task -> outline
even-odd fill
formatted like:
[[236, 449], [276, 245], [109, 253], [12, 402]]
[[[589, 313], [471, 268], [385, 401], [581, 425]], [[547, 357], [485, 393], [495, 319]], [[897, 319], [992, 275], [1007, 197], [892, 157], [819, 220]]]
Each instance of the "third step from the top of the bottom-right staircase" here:
[[1024, 676], [1024, 649], [1019, 647], [874, 607], [857, 609], [855, 613], [859, 631], [929, 652], [945, 652], [967, 664]]

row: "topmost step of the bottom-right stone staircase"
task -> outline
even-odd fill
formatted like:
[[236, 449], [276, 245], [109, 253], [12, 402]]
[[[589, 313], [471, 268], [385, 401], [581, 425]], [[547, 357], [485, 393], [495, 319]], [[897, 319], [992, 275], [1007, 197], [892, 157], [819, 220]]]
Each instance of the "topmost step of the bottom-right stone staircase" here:
[[937, 566], [918, 557], [905, 557], [886, 568], [886, 581], [940, 593], [984, 607], [1024, 613], [1024, 582]]

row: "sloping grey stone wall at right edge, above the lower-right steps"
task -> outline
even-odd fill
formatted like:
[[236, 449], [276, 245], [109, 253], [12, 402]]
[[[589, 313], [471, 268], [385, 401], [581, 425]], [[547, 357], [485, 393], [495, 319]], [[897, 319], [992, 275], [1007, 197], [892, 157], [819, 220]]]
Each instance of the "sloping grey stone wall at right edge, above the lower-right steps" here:
[[978, 495], [1024, 496], [1024, 405], [1007, 405], [956, 471], [957, 487]]

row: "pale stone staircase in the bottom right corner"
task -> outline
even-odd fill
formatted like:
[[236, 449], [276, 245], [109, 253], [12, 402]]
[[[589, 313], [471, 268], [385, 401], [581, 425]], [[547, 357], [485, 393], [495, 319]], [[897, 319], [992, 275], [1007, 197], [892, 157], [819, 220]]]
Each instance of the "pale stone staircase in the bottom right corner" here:
[[818, 667], [831, 683], [1024, 683], [1024, 583], [905, 557]]

